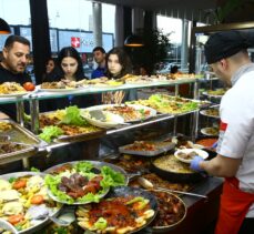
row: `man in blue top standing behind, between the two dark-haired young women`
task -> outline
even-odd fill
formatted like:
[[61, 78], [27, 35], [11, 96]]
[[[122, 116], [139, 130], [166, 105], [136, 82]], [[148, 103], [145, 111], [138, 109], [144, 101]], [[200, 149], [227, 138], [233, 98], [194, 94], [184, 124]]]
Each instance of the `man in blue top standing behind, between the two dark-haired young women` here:
[[105, 50], [102, 47], [95, 47], [92, 52], [98, 68], [92, 72], [91, 78], [105, 77]]

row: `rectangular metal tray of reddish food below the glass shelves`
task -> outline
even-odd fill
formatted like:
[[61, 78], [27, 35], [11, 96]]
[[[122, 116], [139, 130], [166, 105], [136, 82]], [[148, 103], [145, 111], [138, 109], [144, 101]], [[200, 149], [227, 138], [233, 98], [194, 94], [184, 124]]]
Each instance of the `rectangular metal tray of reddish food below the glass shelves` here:
[[174, 143], [160, 141], [135, 141], [133, 144], [128, 144], [119, 147], [120, 153], [155, 156], [165, 153], [174, 147]]

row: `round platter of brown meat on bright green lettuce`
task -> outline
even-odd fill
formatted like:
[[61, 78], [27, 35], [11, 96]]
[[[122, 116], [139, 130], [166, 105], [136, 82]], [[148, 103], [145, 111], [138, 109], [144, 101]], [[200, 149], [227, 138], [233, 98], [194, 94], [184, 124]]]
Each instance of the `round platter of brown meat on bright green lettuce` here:
[[125, 184], [124, 175], [108, 165], [95, 167], [95, 170], [94, 163], [90, 161], [73, 162], [70, 166], [67, 165], [61, 165], [61, 170], [58, 166], [48, 170], [48, 172], [51, 171], [51, 174], [45, 175], [49, 195], [60, 203], [99, 202], [111, 186]]

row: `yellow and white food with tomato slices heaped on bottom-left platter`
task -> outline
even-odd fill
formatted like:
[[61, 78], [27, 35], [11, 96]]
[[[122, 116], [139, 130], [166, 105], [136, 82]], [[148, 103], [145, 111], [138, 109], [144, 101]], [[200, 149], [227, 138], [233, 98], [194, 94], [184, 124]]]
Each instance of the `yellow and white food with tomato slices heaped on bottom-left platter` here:
[[43, 174], [17, 172], [0, 176], [0, 218], [19, 233], [32, 232], [55, 215], [61, 204], [48, 196]]

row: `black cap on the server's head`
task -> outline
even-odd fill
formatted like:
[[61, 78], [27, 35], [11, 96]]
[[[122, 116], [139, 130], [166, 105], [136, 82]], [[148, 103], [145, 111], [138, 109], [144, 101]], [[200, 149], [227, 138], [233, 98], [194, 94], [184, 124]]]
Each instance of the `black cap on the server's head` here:
[[209, 64], [228, 58], [250, 48], [252, 44], [246, 34], [238, 31], [224, 31], [212, 34], [204, 45], [204, 54]]

